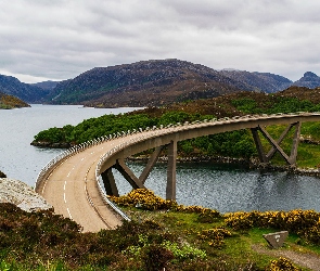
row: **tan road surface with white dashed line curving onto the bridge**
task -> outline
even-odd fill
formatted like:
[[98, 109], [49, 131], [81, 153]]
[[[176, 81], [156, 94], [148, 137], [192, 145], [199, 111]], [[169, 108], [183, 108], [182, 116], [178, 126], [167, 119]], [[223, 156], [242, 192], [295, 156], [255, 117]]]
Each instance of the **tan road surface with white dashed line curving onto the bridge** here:
[[55, 214], [76, 221], [84, 232], [115, 229], [121, 224], [121, 219], [103, 202], [95, 167], [101, 155], [123, 141], [115, 139], [68, 157], [43, 180], [38, 193], [54, 207]]

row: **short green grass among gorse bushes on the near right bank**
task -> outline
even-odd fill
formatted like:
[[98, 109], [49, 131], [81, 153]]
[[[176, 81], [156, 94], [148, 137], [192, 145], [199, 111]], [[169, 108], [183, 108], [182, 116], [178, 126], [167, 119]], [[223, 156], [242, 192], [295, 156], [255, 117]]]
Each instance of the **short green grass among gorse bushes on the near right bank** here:
[[[130, 214], [130, 216], [133, 219], [137, 219], [137, 221], [138, 217], [140, 217], [142, 221], [145, 219], [155, 220], [165, 228], [169, 229], [169, 231], [175, 235], [181, 235], [181, 233], [184, 233], [183, 238], [187, 242], [196, 244], [202, 249], [205, 249], [209, 257], [213, 259], [219, 259], [219, 262], [225, 262], [226, 267], [230, 267], [230, 269], [241, 264], [244, 266], [247, 262], [255, 262], [258, 270], [264, 270], [264, 268], [268, 266], [271, 260], [277, 259], [277, 257], [256, 253], [252, 248], [252, 245], [260, 245], [264, 248], [269, 249], [263, 234], [278, 231], [276, 229], [253, 228], [248, 231], [232, 231], [232, 237], [226, 238], [222, 247], [212, 248], [208, 244], [199, 241], [197, 233], [202, 230], [226, 227], [223, 218], [217, 219], [213, 223], [201, 223], [199, 222], [197, 214], [137, 210], [128, 207], [125, 208], [125, 211]], [[299, 240], [300, 237], [298, 235], [290, 234], [284, 243], [284, 248], [300, 253], [313, 253], [320, 256], [319, 246], [307, 243], [298, 245], [297, 243]], [[308, 269], [302, 268], [302, 270]]]

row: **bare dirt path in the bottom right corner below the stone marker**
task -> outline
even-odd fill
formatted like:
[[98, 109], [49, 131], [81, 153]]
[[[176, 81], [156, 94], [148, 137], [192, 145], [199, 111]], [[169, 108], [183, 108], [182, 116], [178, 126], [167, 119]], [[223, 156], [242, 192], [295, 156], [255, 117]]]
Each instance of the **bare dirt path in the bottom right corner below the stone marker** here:
[[253, 245], [252, 248], [259, 254], [266, 254], [276, 257], [284, 257], [300, 267], [309, 268], [315, 271], [320, 271], [320, 257], [317, 255], [297, 253], [293, 250], [286, 250], [283, 248], [271, 249], [266, 248], [261, 245]]

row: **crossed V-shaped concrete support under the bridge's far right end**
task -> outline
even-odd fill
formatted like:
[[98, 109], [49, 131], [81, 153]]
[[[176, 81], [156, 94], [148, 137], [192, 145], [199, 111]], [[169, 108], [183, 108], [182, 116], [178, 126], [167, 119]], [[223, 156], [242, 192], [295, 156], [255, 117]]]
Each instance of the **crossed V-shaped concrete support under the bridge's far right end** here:
[[[264, 127], [258, 126], [256, 128], [252, 128], [251, 130], [252, 130], [253, 138], [255, 141], [257, 151], [258, 151], [260, 162], [261, 163], [269, 163], [271, 160], [271, 158], [273, 157], [273, 155], [276, 154], [276, 152], [279, 152], [280, 155], [283, 157], [283, 159], [289, 165], [291, 165], [291, 166], [295, 165], [296, 164], [296, 156], [297, 156], [297, 147], [298, 147], [298, 142], [299, 142], [299, 136], [300, 136], [300, 127], [302, 127], [302, 124], [299, 121], [289, 125], [277, 141], [274, 139], [272, 139], [272, 137], [267, 132], [267, 130]], [[287, 133], [291, 131], [292, 128], [295, 128], [295, 131], [294, 131], [294, 136], [293, 136], [291, 154], [289, 156], [282, 150], [280, 144], [284, 140], [284, 138], [287, 136]], [[272, 145], [271, 150], [267, 154], [264, 151], [258, 131], [260, 131], [260, 133]]]

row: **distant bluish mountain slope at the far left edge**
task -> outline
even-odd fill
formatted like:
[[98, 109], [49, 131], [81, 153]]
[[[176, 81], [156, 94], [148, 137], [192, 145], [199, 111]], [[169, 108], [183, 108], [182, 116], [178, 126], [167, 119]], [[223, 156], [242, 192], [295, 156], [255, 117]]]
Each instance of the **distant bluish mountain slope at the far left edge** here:
[[0, 75], [0, 91], [14, 95], [27, 103], [41, 102], [49, 91], [39, 87], [21, 82], [12, 76]]

